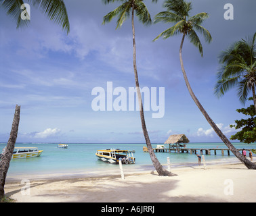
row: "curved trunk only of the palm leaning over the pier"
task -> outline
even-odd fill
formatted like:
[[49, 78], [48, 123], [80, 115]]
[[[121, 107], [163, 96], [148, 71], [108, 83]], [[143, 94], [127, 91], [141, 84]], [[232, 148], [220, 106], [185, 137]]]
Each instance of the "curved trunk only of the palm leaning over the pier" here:
[[194, 92], [192, 90], [192, 88], [190, 87], [190, 83], [188, 82], [188, 78], [184, 69], [184, 64], [183, 64], [183, 60], [182, 60], [182, 47], [183, 47], [183, 43], [184, 43], [184, 38], [185, 38], [185, 34], [183, 34], [182, 36], [182, 43], [180, 45], [179, 48], [179, 61], [180, 64], [182, 66], [182, 73], [184, 76], [184, 80], [186, 82], [186, 86], [188, 88], [188, 91], [190, 92], [190, 95], [192, 97], [192, 99], [194, 100], [194, 103], [196, 103], [197, 107], [200, 109], [200, 111], [202, 112], [202, 115], [205, 116], [205, 118], [207, 119], [208, 123], [211, 125], [211, 127], [213, 128], [213, 130], [216, 132], [216, 134], [219, 136], [219, 138], [221, 138], [221, 140], [226, 144], [226, 146], [228, 146], [228, 148], [230, 149], [230, 151], [232, 151], [232, 153], [248, 168], [248, 169], [256, 169], [256, 164], [252, 163], [251, 161], [249, 161], [248, 159], [244, 158], [239, 151], [231, 144], [230, 140], [228, 140], [228, 138], [226, 138], [226, 136], [221, 132], [221, 130], [219, 130], [219, 128], [216, 126], [216, 124], [213, 122], [213, 120], [211, 119], [211, 117], [208, 115], [207, 111], [205, 111], [204, 107], [202, 107], [202, 105], [200, 104], [200, 102], [198, 101], [198, 99], [196, 98], [196, 96], [194, 95]]

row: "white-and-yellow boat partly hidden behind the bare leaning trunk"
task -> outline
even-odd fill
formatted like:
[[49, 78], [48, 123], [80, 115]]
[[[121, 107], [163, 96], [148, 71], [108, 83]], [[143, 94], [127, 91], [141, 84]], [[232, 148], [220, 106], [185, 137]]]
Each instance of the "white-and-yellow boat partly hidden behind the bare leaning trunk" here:
[[[3, 148], [2, 155], [5, 151]], [[12, 159], [22, 159], [30, 157], [39, 157], [43, 153], [43, 150], [38, 150], [37, 147], [15, 147]]]

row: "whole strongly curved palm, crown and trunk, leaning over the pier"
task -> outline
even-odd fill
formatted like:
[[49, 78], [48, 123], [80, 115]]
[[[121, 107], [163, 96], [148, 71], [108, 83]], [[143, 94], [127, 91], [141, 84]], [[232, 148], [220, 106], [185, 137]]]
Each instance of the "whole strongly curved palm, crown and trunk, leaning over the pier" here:
[[[202, 33], [202, 35], [205, 38], [205, 41], [208, 43], [211, 42], [211, 34], [207, 29], [201, 26], [202, 22], [208, 18], [207, 13], [200, 13], [196, 14], [195, 16], [190, 17], [189, 12], [192, 9], [192, 3], [187, 3], [184, 0], [167, 0], [164, 3], [164, 7], [167, 8], [167, 11], [163, 11], [161, 13], [156, 14], [154, 22], [167, 22], [167, 23], [175, 23], [174, 26], [171, 28], [168, 28], [161, 34], [159, 34], [154, 41], [156, 41], [158, 38], [163, 36], [164, 39], [169, 38], [170, 36], [173, 36], [175, 34], [182, 34], [182, 43], [180, 44], [179, 48], [179, 60], [182, 67], [182, 73], [184, 75], [184, 80], [186, 82], [186, 86], [188, 88], [188, 91], [190, 92], [190, 95], [194, 102], [196, 103], [197, 107], [202, 112], [202, 115], [205, 116], [213, 130], [216, 132], [216, 134], [221, 138], [221, 140], [228, 146], [230, 151], [242, 162], [244, 165], [246, 165], [249, 169], [256, 169], [256, 165], [254, 163], [251, 163], [248, 159], [245, 159], [239, 151], [231, 144], [230, 140], [226, 138], [226, 136], [219, 130], [219, 128], [216, 126], [214, 121], [211, 119], [211, 117], [208, 115], [207, 111], [205, 111], [204, 107], [200, 104], [198, 99], [196, 98], [196, 95], [194, 94], [190, 83], [188, 82], [188, 78], [184, 69], [184, 63], [182, 59], [182, 47], [184, 43], [184, 39], [186, 36], [190, 38], [190, 42], [195, 45], [198, 49], [200, 54], [202, 55], [202, 44], [200, 43], [200, 40], [198, 38], [198, 35], [196, 34], [196, 31]], [[203, 55], [202, 55], [203, 56]]]

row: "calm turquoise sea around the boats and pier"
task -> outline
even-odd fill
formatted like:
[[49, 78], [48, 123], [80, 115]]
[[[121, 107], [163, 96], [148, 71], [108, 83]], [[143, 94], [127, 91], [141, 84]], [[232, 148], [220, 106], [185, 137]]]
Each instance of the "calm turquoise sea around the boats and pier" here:
[[[0, 143], [0, 149], [3, 149], [7, 143]], [[119, 148], [129, 151], [135, 151], [135, 164], [123, 165], [124, 171], [126, 169], [133, 169], [133, 171], [146, 171], [154, 170], [150, 155], [142, 151], [143, 146], [146, 144], [141, 143], [120, 143], [120, 144], [107, 144], [107, 143], [66, 143], [68, 148], [58, 148], [58, 143], [16, 143], [16, 147], [37, 147], [43, 150], [40, 157], [29, 159], [12, 159], [9, 165], [7, 178], [14, 178], [19, 175], [92, 175], [94, 173], [120, 173], [119, 165], [105, 163], [100, 161], [95, 156], [98, 149]], [[254, 148], [255, 144], [242, 144], [240, 142], [232, 143], [236, 148]], [[155, 148], [157, 144], [152, 144]], [[169, 145], [165, 145], [169, 146]], [[227, 148], [221, 142], [205, 142], [205, 143], [189, 143], [187, 147], [191, 148]], [[199, 154], [200, 152], [197, 151]], [[176, 167], [188, 167], [198, 165], [198, 158], [195, 154], [190, 153], [155, 153], [160, 163], [167, 168], [167, 157], [170, 159], [171, 169]], [[203, 151], [205, 155], [205, 151]], [[253, 154], [253, 157], [256, 155]], [[247, 157], [249, 153], [247, 151]], [[218, 163], [236, 163], [238, 159], [230, 152], [228, 156], [227, 151], [225, 155], [221, 155], [221, 151], [217, 151], [217, 155], [211, 151], [211, 155], [205, 155], [206, 164]]]

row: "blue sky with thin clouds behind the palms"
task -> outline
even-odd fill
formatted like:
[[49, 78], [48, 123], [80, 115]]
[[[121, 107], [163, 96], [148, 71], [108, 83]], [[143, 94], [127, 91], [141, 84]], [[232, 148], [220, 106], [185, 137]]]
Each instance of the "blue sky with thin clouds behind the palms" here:
[[[163, 0], [144, 2], [152, 20], [165, 10]], [[64, 3], [68, 35], [33, 5], [30, 24], [21, 29], [0, 7], [0, 142], [9, 138], [17, 104], [21, 106], [17, 142], [144, 143], [140, 112], [130, 91], [135, 87], [131, 20], [117, 30], [116, 19], [102, 25], [118, 1]], [[234, 7], [233, 20], [224, 18], [227, 3]], [[185, 39], [184, 67], [194, 94], [230, 138], [236, 133], [230, 124], [244, 117], [236, 109], [251, 102], [240, 103], [236, 88], [221, 98], [215, 96], [218, 56], [235, 41], [253, 35], [256, 1], [192, 0], [192, 6], [190, 16], [209, 14], [202, 25], [213, 41], [205, 43], [198, 34], [201, 57]], [[179, 63], [182, 35], [152, 42], [169, 27], [144, 26], [135, 19], [137, 72], [148, 95], [145, 119], [150, 140], [163, 143], [171, 134], [186, 134], [190, 142], [221, 142], [186, 88]]]

